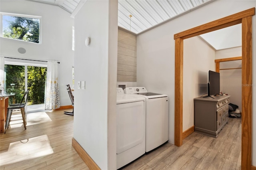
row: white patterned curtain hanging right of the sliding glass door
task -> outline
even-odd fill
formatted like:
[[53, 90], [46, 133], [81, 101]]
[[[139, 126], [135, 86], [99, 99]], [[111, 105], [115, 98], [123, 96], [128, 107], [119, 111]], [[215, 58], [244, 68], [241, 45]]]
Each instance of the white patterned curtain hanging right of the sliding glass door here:
[[60, 108], [60, 93], [58, 85], [58, 63], [47, 62], [47, 78], [44, 93], [44, 109], [52, 110]]

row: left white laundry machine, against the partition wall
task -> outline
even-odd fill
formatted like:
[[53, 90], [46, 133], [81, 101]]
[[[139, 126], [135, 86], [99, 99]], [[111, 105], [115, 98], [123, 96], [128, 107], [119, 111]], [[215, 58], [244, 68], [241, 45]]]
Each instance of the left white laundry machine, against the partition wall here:
[[117, 169], [145, 154], [145, 98], [116, 89]]

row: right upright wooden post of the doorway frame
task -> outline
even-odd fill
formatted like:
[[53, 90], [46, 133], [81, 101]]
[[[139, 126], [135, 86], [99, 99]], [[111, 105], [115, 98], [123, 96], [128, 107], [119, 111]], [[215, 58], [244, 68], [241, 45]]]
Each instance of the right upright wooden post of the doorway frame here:
[[241, 169], [252, 165], [252, 16], [242, 19], [242, 160]]

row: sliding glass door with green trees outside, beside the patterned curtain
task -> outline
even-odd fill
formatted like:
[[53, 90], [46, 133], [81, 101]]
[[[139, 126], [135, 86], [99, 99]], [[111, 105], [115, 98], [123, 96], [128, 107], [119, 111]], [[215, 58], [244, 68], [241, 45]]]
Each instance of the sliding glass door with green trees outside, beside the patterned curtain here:
[[[17, 63], [18, 64], [18, 63]], [[44, 89], [46, 82], [46, 66], [6, 64], [6, 90], [15, 93], [9, 103], [20, 103], [24, 92], [29, 91], [26, 111], [44, 110]]]

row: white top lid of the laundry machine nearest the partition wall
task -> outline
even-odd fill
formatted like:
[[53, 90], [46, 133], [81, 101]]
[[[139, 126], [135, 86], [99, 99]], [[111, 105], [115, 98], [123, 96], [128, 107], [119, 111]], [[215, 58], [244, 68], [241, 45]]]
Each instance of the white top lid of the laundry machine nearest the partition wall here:
[[132, 103], [137, 101], [145, 101], [144, 97], [139, 95], [131, 95], [131, 94], [117, 94], [116, 95], [116, 104], [122, 103]]

